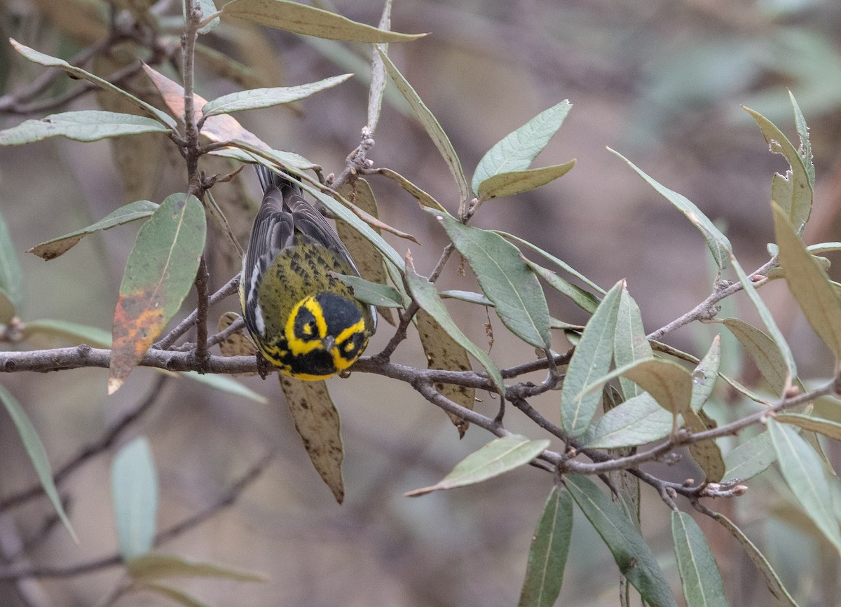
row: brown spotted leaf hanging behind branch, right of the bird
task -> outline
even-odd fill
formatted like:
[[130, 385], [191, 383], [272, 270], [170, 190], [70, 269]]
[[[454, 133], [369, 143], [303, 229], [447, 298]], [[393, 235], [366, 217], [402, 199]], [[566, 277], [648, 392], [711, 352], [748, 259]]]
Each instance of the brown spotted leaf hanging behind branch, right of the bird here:
[[[431, 369], [447, 369], [449, 371], [472, 371], [468, 352], [459, 346], [456, 340], [447, 335], [441, 325], [424, 310], [418, 310], [415, 314], [415, 324], [418, 334], [421, 335], [421, 345], [428, 367]], [[436, 383], [435, 389], [446, 396], [447, 399], [473, 410], [473, 403], [476, 401], [476, 390], [466, 386], [457, 386], [452, 383]], [[448, 414], [452, 424], [458, 430], [459, 438], [463, 438], [468, 430], [468, 422], [458, 415]]]

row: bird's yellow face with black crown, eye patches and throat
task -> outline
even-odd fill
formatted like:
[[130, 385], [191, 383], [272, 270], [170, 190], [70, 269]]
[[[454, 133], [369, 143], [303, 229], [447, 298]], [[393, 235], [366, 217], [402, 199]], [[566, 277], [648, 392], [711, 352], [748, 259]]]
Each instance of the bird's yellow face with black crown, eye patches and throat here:
[[357, 361], [368, 345], [368, 331], [358, 304], [323, 292], [295, 304], [284, 329], [290, 375], [324, 379]]

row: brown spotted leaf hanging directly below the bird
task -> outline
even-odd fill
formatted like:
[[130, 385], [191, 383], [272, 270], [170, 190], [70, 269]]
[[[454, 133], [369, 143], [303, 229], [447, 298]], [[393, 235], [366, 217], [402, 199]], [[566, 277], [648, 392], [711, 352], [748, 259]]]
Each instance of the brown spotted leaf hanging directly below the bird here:
[[345, 449], [341, 443], [339, 411], [327, 384], [295, 379], [283, 373], [278, 373], [278, 377], [309, 461], [341, 504], [345, 500], [345, 482], [341, 477]]

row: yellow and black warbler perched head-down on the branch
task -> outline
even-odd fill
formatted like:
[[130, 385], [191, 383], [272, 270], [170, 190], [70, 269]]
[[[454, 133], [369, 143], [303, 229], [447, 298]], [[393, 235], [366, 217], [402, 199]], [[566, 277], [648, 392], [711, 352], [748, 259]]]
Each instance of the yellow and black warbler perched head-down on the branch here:
[[299, 379], [331, 377], [368, 345], [377, 317], [335, 276], [357, 267], [297, 182], [257, 166], [263, 199], [242, 261], [240, 301], [257, 348]]

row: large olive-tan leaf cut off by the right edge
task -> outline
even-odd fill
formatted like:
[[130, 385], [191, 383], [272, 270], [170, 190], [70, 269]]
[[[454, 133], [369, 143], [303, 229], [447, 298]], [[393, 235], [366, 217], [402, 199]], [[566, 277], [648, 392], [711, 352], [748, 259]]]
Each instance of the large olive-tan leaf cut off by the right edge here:
[[841, 301], [829, 282], [827, 272], [808, 253], [785, 211], [773, 202], [771, 207], [785, 282], [788, 282], [789, 290], [809, 325], [838, 360], [841, 358]]

